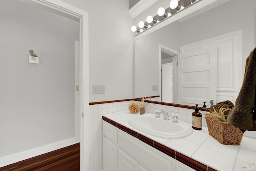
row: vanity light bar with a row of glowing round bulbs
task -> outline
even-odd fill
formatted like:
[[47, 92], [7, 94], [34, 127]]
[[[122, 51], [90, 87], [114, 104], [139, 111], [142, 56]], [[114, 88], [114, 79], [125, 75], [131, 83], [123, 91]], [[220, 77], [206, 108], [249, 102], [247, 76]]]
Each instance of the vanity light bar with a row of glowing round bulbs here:
[[131, 30], [136, 36], [199, 1], [201, 0], [170, 0], [170, 7], [166, 9], [158, 8], [156, 16], [147, 16], [146, 22], [140, 21], [138, 27], [132, 26]]

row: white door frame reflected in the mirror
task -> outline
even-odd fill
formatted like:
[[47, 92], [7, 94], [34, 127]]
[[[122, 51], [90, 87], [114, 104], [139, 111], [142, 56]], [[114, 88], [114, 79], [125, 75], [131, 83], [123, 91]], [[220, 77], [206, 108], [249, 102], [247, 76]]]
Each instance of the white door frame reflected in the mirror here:
[[[168, 48], [167, 46], [164, 46], [164, 45], [162, 45], [162, 44], [159, 44], [159, 48], [158, 48], [159, 50], [158, 50], [158, 56], [159, 56], [159, 58], [158, 58], [158, 62], [159, 62], [159, 80], [158, 80], [158, 89], [159, 89], [159, 95], [160, 95], [160, 101], [162, 101], [162, 52], [164, 52], [164, 53], [166, 53], [166, 54], [168, 54], [168, 55], [171, 55], [171, 56], [173, 56], [173, 58], [172, 58], [172, 62], [173, 62], [173, 64], [176, 64], [177, 62], [178, 62], [178, 58], [177, 58], [177, 55], [178, 54], [180, 54], [180, 52], [177, 52], [176, 50], [173, 50], [173, 49], [171, 49], [171, 48]], [[177, 66], [176, 65], [173, 65], [173, 82], [172, 82], [172, 84], [173, 84], [173, 99], [177, 99], [177, 92], [176, 92], [176, 90], [177, 90], [177, 70], [178, 70], [178, 68], [177, 68]], [[173, 103], [176, 103], [176, 101], [174, 101], [174, 100], [172, 100], [172, 102]]]

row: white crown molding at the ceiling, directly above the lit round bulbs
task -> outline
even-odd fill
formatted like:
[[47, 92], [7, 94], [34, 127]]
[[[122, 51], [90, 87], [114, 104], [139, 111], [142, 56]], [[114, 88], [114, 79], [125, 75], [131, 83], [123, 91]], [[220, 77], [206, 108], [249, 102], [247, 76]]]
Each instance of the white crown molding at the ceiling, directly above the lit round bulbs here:
[[132, 18], [135, 18], [143, 11], [145, 11], [148, 7], [152, 6], [158, 0], [140, 0], [137, 4], [135, 4], [130, 10], [130, 14]]

